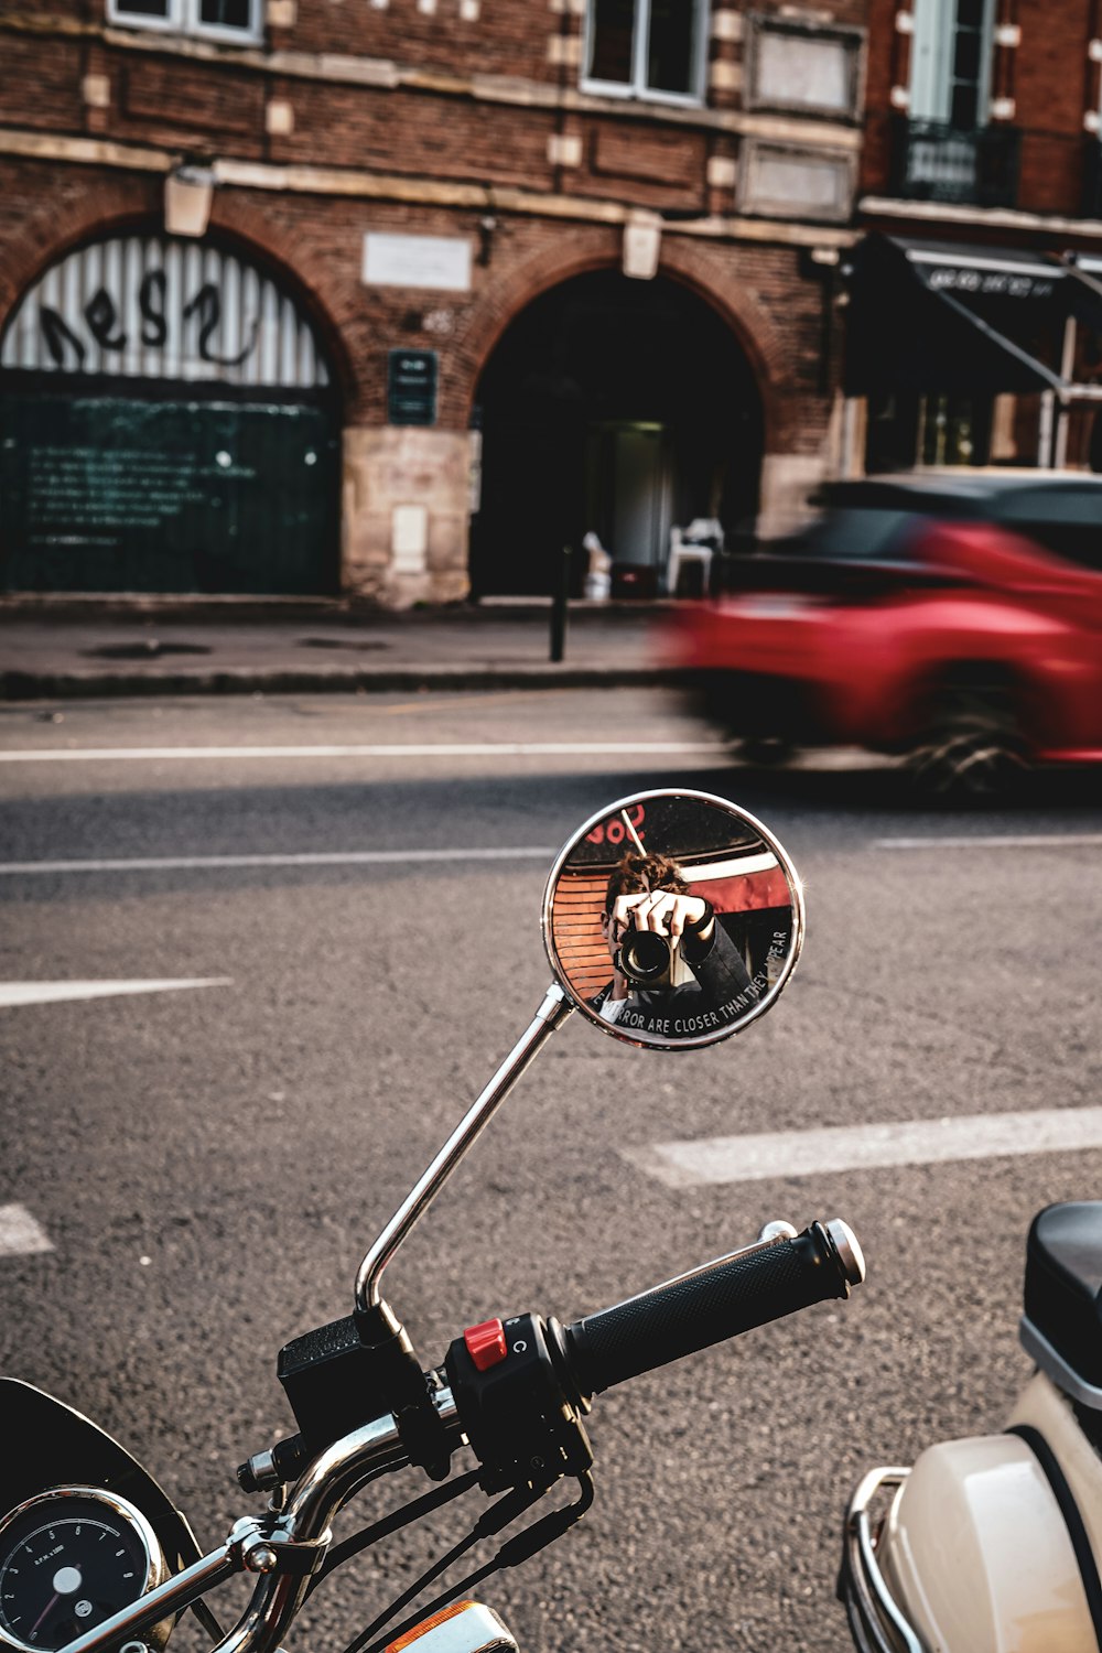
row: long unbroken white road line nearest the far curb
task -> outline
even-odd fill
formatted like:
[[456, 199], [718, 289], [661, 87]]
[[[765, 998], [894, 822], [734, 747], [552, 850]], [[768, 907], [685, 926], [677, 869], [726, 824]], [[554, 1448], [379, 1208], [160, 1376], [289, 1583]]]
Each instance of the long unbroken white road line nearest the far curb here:
[[448, 746], [88, 746], [0, 752], [0, 764], [88, 764], [236, 757], [681, 757], [727, 752], [722, 741], [464, 741]]

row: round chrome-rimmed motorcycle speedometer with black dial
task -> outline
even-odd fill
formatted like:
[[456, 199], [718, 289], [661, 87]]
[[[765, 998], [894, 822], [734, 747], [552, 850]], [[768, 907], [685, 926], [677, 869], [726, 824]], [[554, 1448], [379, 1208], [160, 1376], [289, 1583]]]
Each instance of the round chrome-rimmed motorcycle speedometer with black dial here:
[[55, 1653], [165, 1574], [140, 1509], [101, 1488], [56, 1486], [0, 1521], [0, 1638]]

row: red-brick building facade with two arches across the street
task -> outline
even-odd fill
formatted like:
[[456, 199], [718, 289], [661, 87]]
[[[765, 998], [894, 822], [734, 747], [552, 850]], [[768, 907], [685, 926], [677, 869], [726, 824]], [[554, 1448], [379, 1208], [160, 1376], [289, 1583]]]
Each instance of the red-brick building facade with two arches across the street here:
[[866, 456], [1087, 463], [1099, 3], [0, 0], [0, 584], [648, 588]]

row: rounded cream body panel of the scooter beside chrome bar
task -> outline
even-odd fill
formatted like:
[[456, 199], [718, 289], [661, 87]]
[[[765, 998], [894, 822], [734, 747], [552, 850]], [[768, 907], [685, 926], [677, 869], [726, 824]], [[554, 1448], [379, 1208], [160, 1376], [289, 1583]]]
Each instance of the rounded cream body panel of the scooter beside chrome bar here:
[[930, 1653], [1097, 1653], [1064, 1517], [1016, 1435], [924, 1451], [877, 1559]]

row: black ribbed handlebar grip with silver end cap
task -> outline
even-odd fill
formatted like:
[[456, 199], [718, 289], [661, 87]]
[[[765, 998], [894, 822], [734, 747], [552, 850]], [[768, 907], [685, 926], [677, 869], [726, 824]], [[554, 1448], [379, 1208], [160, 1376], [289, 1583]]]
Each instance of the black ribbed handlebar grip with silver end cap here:
[[565, 1344], [580, 1393], [595, 1395], [725, 1337], [765, 1326], [864, 1279], [861, 1246], [843, 1222], [750, 1246], [587, 1314]]

